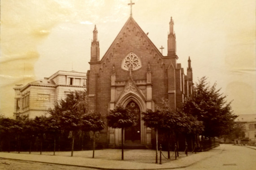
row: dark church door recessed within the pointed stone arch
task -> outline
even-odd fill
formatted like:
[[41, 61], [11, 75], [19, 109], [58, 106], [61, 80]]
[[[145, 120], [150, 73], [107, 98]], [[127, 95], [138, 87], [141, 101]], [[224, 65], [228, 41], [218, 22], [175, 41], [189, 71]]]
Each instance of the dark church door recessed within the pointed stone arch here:
[[137, 125], [125, 128], [125, 143], [126, 144], [140, 144], [140, 109], [136, 102], [131, 101], [126, 106], [137, 116]]

